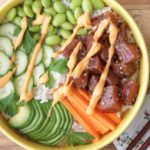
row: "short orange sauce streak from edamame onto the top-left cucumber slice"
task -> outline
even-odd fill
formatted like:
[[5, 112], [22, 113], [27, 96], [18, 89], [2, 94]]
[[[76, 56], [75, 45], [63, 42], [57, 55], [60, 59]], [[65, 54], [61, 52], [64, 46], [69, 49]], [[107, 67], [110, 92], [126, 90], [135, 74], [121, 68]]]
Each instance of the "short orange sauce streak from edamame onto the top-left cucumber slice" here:
[[18, 48], [18, 46], [21, 45], [24, 34], [27, 30], [28, 27], [28, 23], [27, 23], [27, 18], [23, 17], [22, 21], [21, 21], [21, 32], [19, 33], [15, 43], [14, 43], [14, 49], [16, 50]]

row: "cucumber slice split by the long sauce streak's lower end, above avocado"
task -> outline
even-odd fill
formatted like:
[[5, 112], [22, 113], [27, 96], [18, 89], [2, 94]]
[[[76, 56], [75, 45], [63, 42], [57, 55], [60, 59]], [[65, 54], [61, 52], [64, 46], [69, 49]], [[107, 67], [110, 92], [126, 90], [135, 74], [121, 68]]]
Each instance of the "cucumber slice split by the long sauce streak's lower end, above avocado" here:
[[[25, 73], [14, 79], [15, 92], [17, 96], [21, 95], [24, 81], [25, 81]], [[30, 80], [28, 90], [31, 91], [32, 87], [33, 87], [33, 78], [31, 78]]]

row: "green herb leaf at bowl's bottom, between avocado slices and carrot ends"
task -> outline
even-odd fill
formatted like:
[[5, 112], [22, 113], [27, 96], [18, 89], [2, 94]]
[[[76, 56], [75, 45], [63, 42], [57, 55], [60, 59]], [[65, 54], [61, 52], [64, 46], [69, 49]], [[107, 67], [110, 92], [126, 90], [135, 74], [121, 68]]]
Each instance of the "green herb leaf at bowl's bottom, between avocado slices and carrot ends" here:
[[66, 140], [68, 145], [86, 145], [89, 144], [94, 137], [86, 132], [73, 132], [69, 131], [66, 134]]

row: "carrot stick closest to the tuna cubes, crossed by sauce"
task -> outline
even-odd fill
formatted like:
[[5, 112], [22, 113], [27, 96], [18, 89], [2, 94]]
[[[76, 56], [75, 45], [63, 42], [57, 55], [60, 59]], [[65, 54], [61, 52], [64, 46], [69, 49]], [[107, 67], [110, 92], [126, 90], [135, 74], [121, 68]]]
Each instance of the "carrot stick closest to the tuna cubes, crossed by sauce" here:
[[[83, 96], [83, 98], [85, 100], [90, 101], [90, 97], [86, 91], [81, 90], [81, 89], [76, 89], [76, 90], [81, 96]], [[97, 111], [99, 111], [98, 107], [96, 107], [96, 109], [97, 109]], [[114, 114], [114, 113], [103, 113], [103, 114], [105, 116], [107, 116], [111, 121], [113, 121], [117, 125], [121, 122], [121, 119], [119, 117], [117, 117], [116, 114]]]

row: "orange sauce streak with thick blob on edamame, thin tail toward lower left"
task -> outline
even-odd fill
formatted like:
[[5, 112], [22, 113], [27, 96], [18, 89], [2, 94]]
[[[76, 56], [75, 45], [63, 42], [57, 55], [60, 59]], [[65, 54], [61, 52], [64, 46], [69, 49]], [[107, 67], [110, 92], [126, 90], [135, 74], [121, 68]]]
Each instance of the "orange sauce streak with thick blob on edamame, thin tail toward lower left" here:
[[77, 20], [77, 25], [73, 30], [73, 33], [68, 38], [68, 40], [64, 43], [64, 45], [60, 48], [59, 51], [54, 53], [54, 57], [57, 57], [60, 53], [64, 51], [64, 49], [72, 42], [72, 40], [75, 38], [76, 34], [78, 33], [79, 29], [81, 27], [85, 27], [87, 29], [91, 28], [91, 20], [90, 20], [90, 14], [88, 12], [85, 12], [82, 16], [80, 16]]

